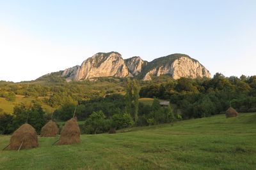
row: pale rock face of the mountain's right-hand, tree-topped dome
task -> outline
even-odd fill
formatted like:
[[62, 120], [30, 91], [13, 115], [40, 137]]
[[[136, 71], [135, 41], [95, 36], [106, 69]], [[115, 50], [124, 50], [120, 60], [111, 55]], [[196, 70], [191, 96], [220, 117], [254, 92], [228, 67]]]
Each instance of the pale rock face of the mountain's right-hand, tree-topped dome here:
[[163, 74], [169, 74], [174, 79], [181, 77], [186, 78], [203, 78], [211, 77], [211, 73], [200, 62], [195, 59], [191, 59], [188, 56], [181, 56], [173, 60], [173, 62], [166, 62], [166, 64], [154, 67], [148, 71], [143, 80], [151, 80], [151, 75], [160, 76]]

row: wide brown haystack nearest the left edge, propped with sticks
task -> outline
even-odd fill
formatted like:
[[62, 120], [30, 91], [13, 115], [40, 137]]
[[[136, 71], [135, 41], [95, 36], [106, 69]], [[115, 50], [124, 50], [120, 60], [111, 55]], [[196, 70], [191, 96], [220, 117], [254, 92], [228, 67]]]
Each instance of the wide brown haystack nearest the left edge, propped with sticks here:
[[11, 136], [10, 149], [12, 150], [36, 148], [37, 146], [36, 131], [29, 124], [21, 125]]

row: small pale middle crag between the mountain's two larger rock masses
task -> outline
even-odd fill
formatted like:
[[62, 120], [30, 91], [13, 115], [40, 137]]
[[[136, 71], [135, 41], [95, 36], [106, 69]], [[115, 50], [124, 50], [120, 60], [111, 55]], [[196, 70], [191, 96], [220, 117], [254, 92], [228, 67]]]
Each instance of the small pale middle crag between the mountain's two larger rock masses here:
[[129, 72], [134, 76], [141, 73], [143, 66], [147, 66], [147, 61], [143, 61], [140, 57], [131, 57], [130, 59], [126, 59], [125, 63], [127, 64]]

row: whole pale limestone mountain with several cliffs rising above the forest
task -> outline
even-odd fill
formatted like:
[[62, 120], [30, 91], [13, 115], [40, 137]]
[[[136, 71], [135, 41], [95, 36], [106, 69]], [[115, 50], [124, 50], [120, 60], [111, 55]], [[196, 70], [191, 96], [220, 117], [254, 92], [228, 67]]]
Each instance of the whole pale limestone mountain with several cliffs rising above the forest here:
[[152, 76], [162, 74], [169, 74], [174, 79], [211, 77], [209, 71], [198, 60], [188, 55], [175, 53], [147, 62], [140, 57], [124, 60], [118, 52], [96, 53], [84, 60], [81, 66], [65, 69], [61, 76], [67, 81], [90, 80], [106, 76], [120, 78], [136, 76], [148, 81], [152, 79]]

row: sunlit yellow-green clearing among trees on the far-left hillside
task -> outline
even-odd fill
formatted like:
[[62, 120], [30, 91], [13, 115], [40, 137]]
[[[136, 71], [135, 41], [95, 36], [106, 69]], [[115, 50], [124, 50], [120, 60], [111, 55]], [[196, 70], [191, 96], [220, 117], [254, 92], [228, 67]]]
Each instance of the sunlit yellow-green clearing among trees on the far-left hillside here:
[[[38, 97], [38, 99], [42, 100], [44, 97]], [[35, 100], [35, 97], [24, 97], [16, 95], [15, 101], [6, 101], [5, 98], [0, 97], [0, 108], [3, 109], [3, 112], [6, 113], [13, 113], [13, 108], [15, 105], [24, 103], [26, 106], [29, 106], [32, 100]], [[48, 106], [47, 104], [42, 103], [42, 108], [47, 113], [52, 113], [55, 108], [52, 108], [51, 106]]]

